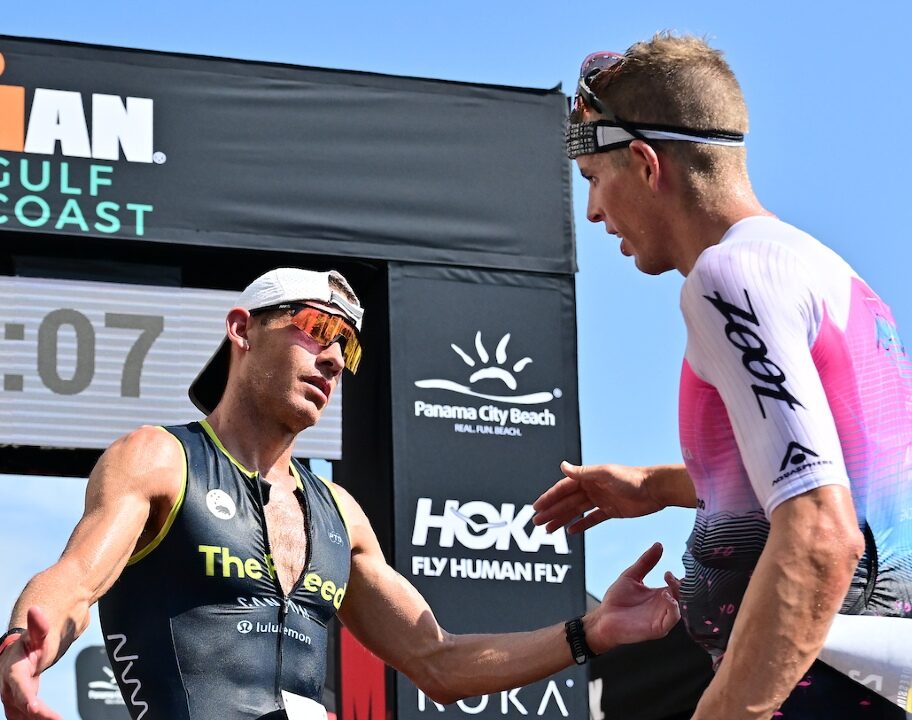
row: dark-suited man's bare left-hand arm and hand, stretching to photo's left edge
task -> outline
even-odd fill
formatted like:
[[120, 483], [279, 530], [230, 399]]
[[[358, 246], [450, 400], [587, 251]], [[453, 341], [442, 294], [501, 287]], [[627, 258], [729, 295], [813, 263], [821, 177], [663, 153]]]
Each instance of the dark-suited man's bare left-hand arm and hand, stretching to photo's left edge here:
[[29, 581], [13, 608], [10, 627], [26, 632], [0, 653], [8, 718], [59, 717], [38, 699], [38, 676], [85, 630], [91, 605], [157, 533], [167, 499], [173, 504], [179, 492], [182, 464], [174, 438], [152, 427], [121, 438], [98, 461], [63, 555]]

